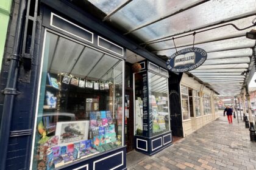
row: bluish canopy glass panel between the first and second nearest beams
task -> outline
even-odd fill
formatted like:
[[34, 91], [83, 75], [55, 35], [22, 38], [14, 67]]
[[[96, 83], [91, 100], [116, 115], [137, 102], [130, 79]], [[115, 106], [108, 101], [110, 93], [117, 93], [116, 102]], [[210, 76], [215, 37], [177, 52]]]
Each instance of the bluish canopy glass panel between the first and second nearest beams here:
[[[202, 0], [200, 0], [202, 1]], [[155, 21], [162, 16], [177, 12], [198, 0], [168, 1], [168, 0], [137, 0], [127, 4], [123, 9], [111, 16], [111, 20], [118, 22], [126, 30]], [[140, 7], [140, 10], [138, 10]]]

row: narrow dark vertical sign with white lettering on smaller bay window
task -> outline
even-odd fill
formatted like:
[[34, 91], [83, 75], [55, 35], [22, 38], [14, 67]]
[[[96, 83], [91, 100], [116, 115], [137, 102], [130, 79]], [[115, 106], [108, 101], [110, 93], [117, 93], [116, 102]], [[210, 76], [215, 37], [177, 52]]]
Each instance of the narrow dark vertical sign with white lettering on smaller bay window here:
[[143, 135], [148, 136], [148, 78], [143, 73]]

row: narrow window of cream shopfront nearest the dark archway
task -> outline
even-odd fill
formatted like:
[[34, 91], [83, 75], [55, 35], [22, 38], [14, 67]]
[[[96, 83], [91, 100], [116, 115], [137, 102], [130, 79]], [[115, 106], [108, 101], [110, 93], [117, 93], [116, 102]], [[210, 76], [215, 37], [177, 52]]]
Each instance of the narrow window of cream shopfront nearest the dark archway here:
[[182, 86], [181, 87], [181, 94], [182, 94], [182, 115], [183, 120], [190, 119], [190, 108], [188, 103], [188, 87]]

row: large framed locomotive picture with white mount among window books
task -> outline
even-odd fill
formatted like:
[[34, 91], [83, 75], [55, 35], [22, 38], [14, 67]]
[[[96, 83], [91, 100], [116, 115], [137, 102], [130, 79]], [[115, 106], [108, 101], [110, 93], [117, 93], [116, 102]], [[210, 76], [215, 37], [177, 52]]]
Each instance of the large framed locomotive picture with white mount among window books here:
[[88, 139], [89, 121], [57, 122], [59, 144]]

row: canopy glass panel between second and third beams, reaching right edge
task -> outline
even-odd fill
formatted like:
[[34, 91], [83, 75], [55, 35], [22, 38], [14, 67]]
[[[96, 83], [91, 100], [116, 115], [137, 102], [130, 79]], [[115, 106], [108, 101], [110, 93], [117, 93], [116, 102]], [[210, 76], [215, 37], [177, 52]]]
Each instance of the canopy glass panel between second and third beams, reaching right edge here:
[[134, 32], [134, 35], [141, 36], [143, 41], [148, 41], [150, 39], [161, 38], [170, 33], [182, 33], [185, 30], [196, 29], [204, 25], [224, 21], [233, 18], [233, 16], [254, 13], [255, 10], [256, 3], [254, 0], [208, 1], [137, 30]]

